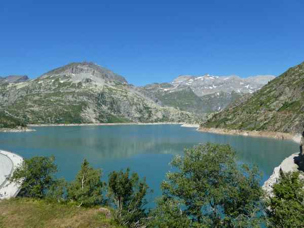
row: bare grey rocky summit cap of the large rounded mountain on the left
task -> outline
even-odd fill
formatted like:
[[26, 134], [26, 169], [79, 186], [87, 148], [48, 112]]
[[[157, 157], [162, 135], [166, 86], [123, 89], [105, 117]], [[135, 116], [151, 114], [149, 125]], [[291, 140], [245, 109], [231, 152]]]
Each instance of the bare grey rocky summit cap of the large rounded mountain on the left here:
[[72, 62], [65, 66], [53, 69], [43, 74], [40, 78], [44, 79], [56, 76], [67, 76], [82, 80], [90, 79], [93, 81], [102, 79], [103, 81], [117, 81], [123, 84], [128, 83], [121, 75], [93, 62]]

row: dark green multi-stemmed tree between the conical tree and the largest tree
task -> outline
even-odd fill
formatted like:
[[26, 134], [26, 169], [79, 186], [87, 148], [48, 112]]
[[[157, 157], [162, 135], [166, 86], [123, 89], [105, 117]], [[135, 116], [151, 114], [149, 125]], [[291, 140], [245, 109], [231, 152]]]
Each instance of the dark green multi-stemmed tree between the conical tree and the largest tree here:
[[113, 171], [108, 179], [108, 198], [115, 208], [115, 219], [120, 225], [140, 227], [147, 217], [144, 206], [149, 186], [137, 173]]

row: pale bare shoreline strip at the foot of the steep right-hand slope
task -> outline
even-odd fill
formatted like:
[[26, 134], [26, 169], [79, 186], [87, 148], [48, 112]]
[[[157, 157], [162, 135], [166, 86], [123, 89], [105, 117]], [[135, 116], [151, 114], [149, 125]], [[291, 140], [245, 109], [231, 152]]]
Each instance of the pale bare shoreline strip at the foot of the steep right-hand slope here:
[[283, 133], [275, 131], [243, 131], [243, 130], [228, 130], [223, 128], [205, 128], [199, 127], [198, 131], [209, 132], [214, 134], [223, 134], [223, 135], [242, 135], [250, 137], [263, 137], [263, 138], [275, 138], [283, 140], [292, 140], [296, 143], [300, 143], [301, 134], [292, 134], [292, 133]]

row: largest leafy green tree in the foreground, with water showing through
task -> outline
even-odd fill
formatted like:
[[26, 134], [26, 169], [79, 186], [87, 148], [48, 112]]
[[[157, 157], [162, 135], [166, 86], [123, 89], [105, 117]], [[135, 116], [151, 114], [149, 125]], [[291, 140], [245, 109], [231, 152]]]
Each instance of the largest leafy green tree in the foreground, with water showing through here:
[[259, 227], [260, 174], [238, 165], [229, 145], [185, 149], [171, 165], [176, 171], [162, 183], [164, 199], [176, 200], [192, 227]]

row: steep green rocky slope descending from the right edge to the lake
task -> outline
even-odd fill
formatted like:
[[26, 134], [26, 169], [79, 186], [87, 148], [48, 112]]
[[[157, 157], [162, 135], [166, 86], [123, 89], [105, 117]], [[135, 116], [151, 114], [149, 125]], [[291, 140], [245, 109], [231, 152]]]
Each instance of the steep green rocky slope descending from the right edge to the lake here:
[[304, 62], [242, 99], [203, 126], [301, 133], [304, 126]]

